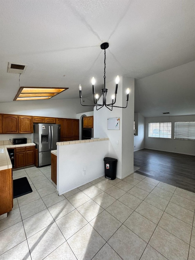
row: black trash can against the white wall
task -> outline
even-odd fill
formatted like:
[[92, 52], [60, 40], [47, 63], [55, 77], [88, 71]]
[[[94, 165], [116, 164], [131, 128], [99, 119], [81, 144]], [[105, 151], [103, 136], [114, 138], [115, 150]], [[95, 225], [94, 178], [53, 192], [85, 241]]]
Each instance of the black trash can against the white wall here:
[[116, 179], [116, 164], [117, 159], [105, 157], [104, 158], [104, 168], [105, 168], [105, 178], [110, 180]]

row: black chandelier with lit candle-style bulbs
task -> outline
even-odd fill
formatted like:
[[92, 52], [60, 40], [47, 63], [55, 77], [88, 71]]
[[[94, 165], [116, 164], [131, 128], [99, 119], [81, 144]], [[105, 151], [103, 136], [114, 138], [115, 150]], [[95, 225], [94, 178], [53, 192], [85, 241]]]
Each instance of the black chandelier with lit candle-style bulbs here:
[[118, 84], [119, 84], [119, 76], [116, 77], [115, 80], [115, 95], [112, 95], [112, 103], [110, 104], [106, 104], [106, 96], [107, 96], [107, 92], [108, 89], [106, 88], [106, 73], [105, 73], [105, 69], [106, 69], [106, 49], [108, 48], [109, 44], [108, 42], [104, 42], [100, 45], [101, 49], [104, 50], [104, 88], [101, 90], [102, 92], [102, 104], [98, 104], [98, 94], [95, 94], [95, 79], [94, 77], [92, 78], [92, 91], [93, 91], [93, 95], [94, 95], [94, 105], [83, 105], [82, 104], [82, 87], [81, 84], [79, 84], [79, 94], [80, 94], [80, 104], [82, 106], [96, 106], [96, 110], [101, 109], [103, 106], [107, 107], [108, 109], [110, 109], [112, 111], [113, 107], [119, 107], [119, 108], [126, 108], [127, 107], [127, 103], [129, 100], [129, 88], [127, 88], [126, 90], [126, 106], [122, 107], [122, 106], [115, 106], [115, 102], [116, 102], [116, 94], [117, 94], [117, 90], [118, 90]]

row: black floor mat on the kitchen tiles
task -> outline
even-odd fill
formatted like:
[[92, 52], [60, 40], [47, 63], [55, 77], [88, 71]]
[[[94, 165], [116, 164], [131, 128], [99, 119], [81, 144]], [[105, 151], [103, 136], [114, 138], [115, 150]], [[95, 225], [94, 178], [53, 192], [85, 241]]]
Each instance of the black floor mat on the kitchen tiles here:
[[32, 192], [27, 177], [13, 180], [13, 198], [17, 198]]

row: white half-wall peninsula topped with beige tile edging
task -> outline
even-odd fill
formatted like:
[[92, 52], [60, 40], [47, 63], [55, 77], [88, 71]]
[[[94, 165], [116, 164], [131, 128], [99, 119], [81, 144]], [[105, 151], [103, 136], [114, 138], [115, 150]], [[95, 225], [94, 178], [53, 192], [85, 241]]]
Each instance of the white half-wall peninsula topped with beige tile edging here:
[[[104, 175], [109, 138], [58, 142], [57, 194], [62, 195]], [[52, 165], [51, 165], [52, 168]]]

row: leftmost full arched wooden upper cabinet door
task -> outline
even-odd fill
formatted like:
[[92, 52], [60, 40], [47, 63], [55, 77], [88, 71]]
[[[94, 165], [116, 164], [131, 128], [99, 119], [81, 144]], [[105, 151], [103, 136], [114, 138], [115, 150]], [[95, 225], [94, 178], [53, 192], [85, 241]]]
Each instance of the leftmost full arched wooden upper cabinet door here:
[[3, 115], [3, 134], [18, 134], [18, 116]]

